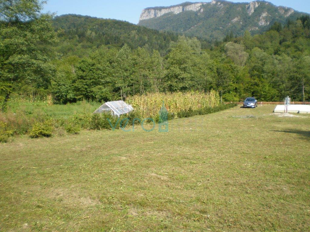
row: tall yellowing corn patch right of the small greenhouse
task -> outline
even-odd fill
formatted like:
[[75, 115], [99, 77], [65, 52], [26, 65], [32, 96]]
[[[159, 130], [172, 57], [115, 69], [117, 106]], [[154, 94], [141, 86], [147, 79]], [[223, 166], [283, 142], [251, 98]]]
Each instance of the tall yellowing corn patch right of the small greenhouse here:
[[135, 95], [127, 98], [137, 114], [143, 118], [157, 115], [162, 108], [162, 102], [168, 112], [177, 113], [181, 110], [197, 110], [203, 107], [219, 105], [219, 93], [211, 90], [203, 92], [176, 92], [176, 93], [148, 93], [147, 95]]

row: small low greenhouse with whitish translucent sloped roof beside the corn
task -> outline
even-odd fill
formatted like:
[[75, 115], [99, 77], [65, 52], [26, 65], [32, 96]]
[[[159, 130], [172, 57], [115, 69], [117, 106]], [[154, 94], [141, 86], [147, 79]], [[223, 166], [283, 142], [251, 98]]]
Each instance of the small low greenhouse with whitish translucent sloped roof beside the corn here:
[[111, 114], [119, 117], [122, 114], [131, 112], [134, 108], [125, 101], [108, 101], [101, 105], [94, 114]]

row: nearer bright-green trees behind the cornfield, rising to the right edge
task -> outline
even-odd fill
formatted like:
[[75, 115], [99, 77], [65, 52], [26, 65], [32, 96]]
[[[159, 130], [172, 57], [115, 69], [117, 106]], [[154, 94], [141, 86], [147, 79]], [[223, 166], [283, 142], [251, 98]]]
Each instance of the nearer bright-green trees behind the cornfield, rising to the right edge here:
[[[161, 57], [155, 50], [102, 47], [73, 66], [60, 66], [51, 91], [62, 102], [91, 99], [108, 101], [146, 92], [219, 91], [224, 101], [255, 96], [280, 101], [286, 95], [309, 99], [309, 17], [268, 32], [229, 37], [211, 50], [195, 38], [179, 37]], [[62, 63], [64, 64], [64, 63]]]

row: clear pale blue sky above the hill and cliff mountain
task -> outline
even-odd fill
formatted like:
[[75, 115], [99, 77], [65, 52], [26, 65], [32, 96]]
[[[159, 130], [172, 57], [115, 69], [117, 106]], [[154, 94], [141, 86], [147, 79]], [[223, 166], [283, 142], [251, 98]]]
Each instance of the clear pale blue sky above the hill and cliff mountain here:
[[[201, 2], [210, 2], [205, 0]], [[47, 4], [43, 12], [55, 12], [57, 15], [63, 14], [79, 14], [90, 15], [98, 18], [110, 18], [125, 20], [137, 24], [142, 9], [151, 6], [170, 6], [186, 2], [186, 0], [47, 0]], [[188, 2], [200, 2], [193, 0]], [[235, 1], [231, 2], [245, 2]], [[289, 6], [297, 11], [310, 13], [309, 0], [270, 0], [276, 6]]]

